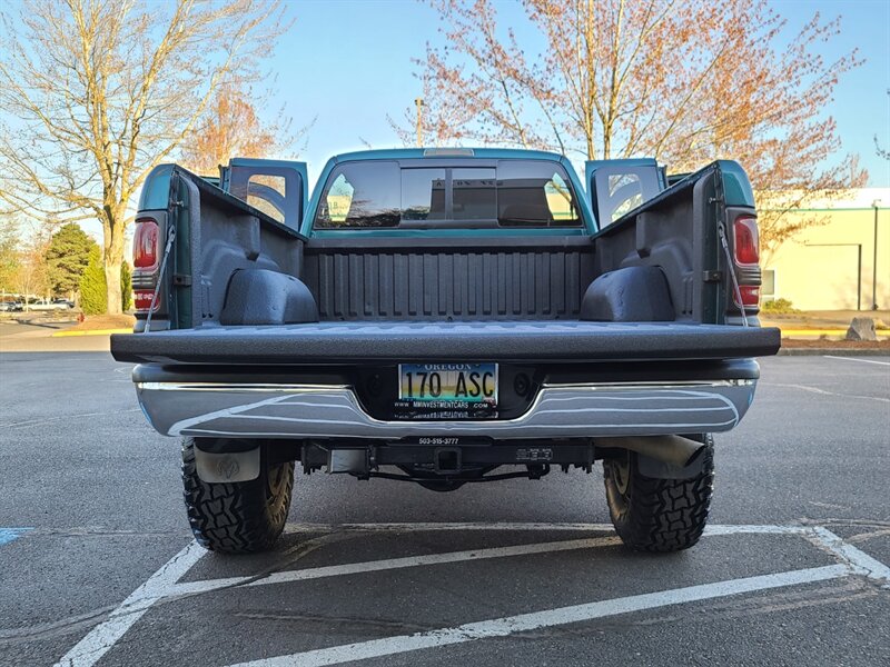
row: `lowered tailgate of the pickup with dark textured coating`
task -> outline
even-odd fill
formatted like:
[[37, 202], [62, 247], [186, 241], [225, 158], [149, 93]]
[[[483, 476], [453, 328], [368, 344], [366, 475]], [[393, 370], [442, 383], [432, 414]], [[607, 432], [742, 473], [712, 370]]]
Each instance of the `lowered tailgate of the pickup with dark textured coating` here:
[[320, 322], [111, 337], [118, 361], [218, 365], [730, 359], [779, 347], [775, 328], [678, 322]]

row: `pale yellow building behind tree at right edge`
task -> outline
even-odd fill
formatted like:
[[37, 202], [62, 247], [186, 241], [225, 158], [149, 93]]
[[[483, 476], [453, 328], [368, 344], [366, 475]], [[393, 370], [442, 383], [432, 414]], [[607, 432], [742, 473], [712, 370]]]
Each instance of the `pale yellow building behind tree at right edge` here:
[[[801, 310], [890, 308], [890, 188], [863, 188], [787, 213], [818, 219], [765, 258], [763, 300]], [[877, 216], [877, 271], [874, 230]]]

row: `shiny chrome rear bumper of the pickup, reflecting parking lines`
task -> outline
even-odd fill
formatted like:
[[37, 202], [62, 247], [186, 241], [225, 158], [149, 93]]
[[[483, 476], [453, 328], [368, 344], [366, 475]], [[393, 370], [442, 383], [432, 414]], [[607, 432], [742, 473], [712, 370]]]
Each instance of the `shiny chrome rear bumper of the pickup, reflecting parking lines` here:
[[168, 436], [225, 438], [488, 437], [500, 440], [720, 432], [748, 411], [756, 380], [545, 385], [515, 419], [382, 421], [346, 385], [137, 382]]

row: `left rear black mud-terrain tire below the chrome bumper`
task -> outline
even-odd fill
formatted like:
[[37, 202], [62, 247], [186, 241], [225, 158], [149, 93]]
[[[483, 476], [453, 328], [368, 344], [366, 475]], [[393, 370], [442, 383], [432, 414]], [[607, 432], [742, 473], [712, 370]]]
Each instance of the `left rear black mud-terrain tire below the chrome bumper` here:
[[195, 539], [211, 551], [265, 551], [284, 530], [294, 488], [294, 461], [269, 465], [260, 452], [259, 477], [208, 484], [195, 467], [195, 440], [182, 439], [182, 487]]

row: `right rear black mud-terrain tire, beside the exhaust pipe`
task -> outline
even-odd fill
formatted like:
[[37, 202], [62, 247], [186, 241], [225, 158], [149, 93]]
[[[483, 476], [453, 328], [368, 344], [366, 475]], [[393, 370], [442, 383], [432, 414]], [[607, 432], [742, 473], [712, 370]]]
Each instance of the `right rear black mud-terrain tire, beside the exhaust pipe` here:
[[603, 461], [612, 524], [622, 541], [640, 551], [680, 551], [699, 541], [708, 522], [714, 481], [714, 441], [704, 436], [703, 468], [692, 479], [653, 479], [640, 474], [636, 455]]

